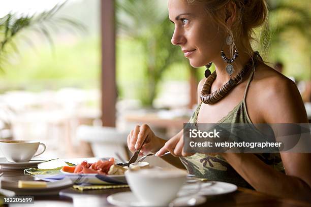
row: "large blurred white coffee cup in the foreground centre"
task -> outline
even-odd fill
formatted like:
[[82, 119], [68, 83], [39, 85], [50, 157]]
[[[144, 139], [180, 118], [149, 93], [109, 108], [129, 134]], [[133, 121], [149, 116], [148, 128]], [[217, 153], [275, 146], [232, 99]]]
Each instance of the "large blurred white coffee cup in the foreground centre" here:
[[131, 190], [145, 206], [168, 205], [187, 178], [185, 171], [159, 168], [127, 170], [125, 176]]

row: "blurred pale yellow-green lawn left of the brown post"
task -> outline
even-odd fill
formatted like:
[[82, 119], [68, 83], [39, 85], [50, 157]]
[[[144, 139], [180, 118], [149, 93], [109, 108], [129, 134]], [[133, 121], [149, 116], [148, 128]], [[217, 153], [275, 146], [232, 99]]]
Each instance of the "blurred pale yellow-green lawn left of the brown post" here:
[[5, 75], [0, 76], [0, 88], [5, 90], [26, 89], [31, 91], [58, 90], [62, 87], [84, 89], [99, 88], [100, 40], [88, 37], [70, 42], [55, 41], [54, 53], [48, 44], [29, 52], [21, 47], [23, 54], [18, 61], [5, 66]]

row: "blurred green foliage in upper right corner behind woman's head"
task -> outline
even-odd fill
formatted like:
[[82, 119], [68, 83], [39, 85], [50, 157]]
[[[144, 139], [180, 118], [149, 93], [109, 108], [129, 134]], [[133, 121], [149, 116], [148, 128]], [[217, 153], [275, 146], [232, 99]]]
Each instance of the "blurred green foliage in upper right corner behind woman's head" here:
[[269, 62], [281, 61], [285, 74], [311, 79], [311, 12], [309, 0], [269, 0], [269, 19], [261, 28], [259, 50]]

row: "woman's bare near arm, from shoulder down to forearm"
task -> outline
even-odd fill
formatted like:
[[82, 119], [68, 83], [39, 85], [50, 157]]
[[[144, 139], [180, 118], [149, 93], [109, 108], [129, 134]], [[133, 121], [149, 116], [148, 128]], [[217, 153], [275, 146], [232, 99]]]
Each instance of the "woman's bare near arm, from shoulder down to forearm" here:
[[[266, 123], [307, 123], [299, 91], [290, 80], [269, 82], [259, 106]], [[253, 154], [224, 153], [230, 165], [256, 190], [287, 198], [311, 199], [311, 153], [281, 152], [286, 175], [266, 165]]]

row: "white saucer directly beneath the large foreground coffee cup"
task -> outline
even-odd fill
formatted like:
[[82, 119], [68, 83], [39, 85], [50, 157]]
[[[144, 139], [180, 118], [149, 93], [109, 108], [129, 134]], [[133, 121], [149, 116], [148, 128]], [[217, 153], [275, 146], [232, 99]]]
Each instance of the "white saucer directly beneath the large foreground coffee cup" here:
[[[133, 207], [141, 207], [148, 206], [146, 203], [141, 203], [132, 192], [121, 192], [109, 195], [107, 197], [109, 203], [117, 206], [133, 206]], [[206, 201], [206, 198], [203, 196], [189, 196], [189, 197], [178, 197], [173, 200], [170, 205], [176, 206], [194, 206], [202, 204]], [[153, 204], [150, 205], [155, 207]], [[164, 207], [164, 206], [157, 206]]]

